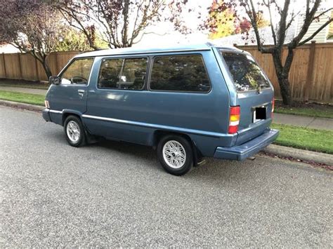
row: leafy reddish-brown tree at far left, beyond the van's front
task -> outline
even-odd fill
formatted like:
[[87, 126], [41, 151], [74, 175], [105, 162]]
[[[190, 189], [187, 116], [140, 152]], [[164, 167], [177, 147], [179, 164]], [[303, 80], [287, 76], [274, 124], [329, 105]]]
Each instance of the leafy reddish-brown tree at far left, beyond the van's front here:
[[0, 40], [30, 53], [51, 76], [48, 55], [65, 32], [61, 16], [44, 1], [1, 0]]

